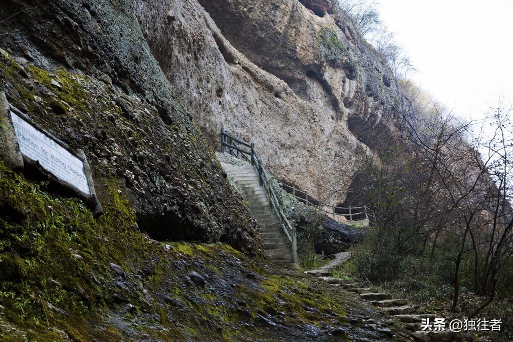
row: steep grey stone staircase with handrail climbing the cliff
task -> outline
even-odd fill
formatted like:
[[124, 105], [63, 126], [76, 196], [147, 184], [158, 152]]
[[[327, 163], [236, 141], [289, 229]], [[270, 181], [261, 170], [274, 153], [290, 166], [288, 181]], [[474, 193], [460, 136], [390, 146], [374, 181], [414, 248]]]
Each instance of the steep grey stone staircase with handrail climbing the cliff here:
[[269, 197], [264, 187], [260, 185], [257, 170], [248, 163], [242, 163], [241, 160], [238, 160], [238, 164], [241, 165], [224, 163], [223, 159], [230, 158], [226, 154], [218, 155], [218, 158], [222, 161], [221, 165], [228, 178], [235, 183], [236, 188], [242, 193], [253, 217], [260, 224], [260, 235], [267, 258], [282, 267], [296, 268], [288, 239], [282, 230], [280, 220], [269, 204]]

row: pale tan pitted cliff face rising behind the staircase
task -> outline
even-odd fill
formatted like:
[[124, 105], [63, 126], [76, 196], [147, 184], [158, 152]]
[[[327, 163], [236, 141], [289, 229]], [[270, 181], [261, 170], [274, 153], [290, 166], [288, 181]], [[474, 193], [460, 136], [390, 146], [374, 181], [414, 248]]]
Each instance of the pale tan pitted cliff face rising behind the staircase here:
[[224, 126], [255, 142], [285, 182], [324, 197], [351, 176], [350, 155], [372, 153], [380, 134], [394, 130], [394, 78], [334, 2], [134, 4], [154, 56], [211, 145]]

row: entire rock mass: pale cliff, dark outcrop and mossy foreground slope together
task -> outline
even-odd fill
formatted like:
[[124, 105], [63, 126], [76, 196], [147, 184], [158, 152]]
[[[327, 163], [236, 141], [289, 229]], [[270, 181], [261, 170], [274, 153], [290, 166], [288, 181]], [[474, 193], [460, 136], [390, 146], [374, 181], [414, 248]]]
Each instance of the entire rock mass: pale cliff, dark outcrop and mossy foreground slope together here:
[[386, 337], [264, 263], [212, 149], [224, 125], [321, 197], [393, 130], [397, 87], [334, 3], [4, 0], [0, 49], [0, 98], [84, 150], [104, 209], [0, 158], [0, 339]]

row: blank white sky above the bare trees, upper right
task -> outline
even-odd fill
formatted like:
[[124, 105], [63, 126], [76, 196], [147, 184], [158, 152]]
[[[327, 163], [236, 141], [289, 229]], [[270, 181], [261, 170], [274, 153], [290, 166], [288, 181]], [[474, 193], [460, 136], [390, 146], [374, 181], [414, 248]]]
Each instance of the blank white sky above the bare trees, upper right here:
[[418, 72], [409, 78], [463, 117], [513, 100], [513, 1], [379, 0]]

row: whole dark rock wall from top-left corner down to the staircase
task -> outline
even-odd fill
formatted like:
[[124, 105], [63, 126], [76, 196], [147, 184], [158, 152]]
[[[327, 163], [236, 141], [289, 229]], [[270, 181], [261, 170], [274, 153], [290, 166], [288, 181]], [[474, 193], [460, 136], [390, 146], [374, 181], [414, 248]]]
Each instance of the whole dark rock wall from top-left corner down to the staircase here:
[[2, 90], [85, 150], [100, 202], [119, 189], [153, 238], [257, 252], [249, 210], [177, 100], [130, 2], [7, 0], [1, 18], [0, 48], [10, 53], [0, 56]]

